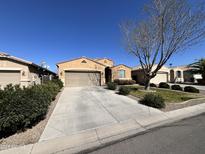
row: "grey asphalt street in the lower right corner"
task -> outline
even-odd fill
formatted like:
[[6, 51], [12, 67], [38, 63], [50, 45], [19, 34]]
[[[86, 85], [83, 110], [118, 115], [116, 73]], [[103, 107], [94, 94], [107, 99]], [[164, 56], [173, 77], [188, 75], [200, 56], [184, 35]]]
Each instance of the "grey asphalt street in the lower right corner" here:
[[205, 114], [107, 146], [90, 154], [204, 154]]

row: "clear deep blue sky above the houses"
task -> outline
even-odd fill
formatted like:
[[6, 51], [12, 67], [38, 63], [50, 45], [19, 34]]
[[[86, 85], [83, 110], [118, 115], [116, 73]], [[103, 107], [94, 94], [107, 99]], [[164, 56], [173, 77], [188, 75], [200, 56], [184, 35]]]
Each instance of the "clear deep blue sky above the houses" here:
[[[119, 24], [142, 19], [148, 0], [0, 0], [0, 51], [56, 71], [56, 63], [86, 56], [138, 65], [126, 51]], [[174, 55], [167, 64], [205, 57], [205, 43]]]

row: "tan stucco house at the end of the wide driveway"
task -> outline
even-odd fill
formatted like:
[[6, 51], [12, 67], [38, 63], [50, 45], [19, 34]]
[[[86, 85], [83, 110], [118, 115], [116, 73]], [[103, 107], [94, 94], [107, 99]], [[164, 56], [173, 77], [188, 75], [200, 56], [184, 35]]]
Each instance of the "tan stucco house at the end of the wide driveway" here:
[[114, 66], [111, 59], [81, 57], [57, 64], [58, 75], [66, 87], [100, 86], [115, 79], [131, 79], [131, 68]]

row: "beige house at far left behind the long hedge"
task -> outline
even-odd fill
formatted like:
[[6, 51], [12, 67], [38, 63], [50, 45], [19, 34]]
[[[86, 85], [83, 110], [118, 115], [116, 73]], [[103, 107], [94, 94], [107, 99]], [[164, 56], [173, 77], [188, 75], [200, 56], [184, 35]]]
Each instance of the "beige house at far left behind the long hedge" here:
[[0, 87], [19, 84], [21, 87], [40, 84], [42, 79], [56, 74], [32, 62], [0, 53]]

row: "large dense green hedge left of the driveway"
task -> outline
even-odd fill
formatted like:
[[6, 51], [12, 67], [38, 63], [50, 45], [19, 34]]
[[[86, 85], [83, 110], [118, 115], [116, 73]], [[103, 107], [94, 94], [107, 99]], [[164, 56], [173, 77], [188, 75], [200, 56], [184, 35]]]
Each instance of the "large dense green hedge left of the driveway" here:
[[42, 120], [61, 89], [59, 85], [52, 81], [28, 88], [10, 84], [1, 90], [0, 138], [32, 127]]

